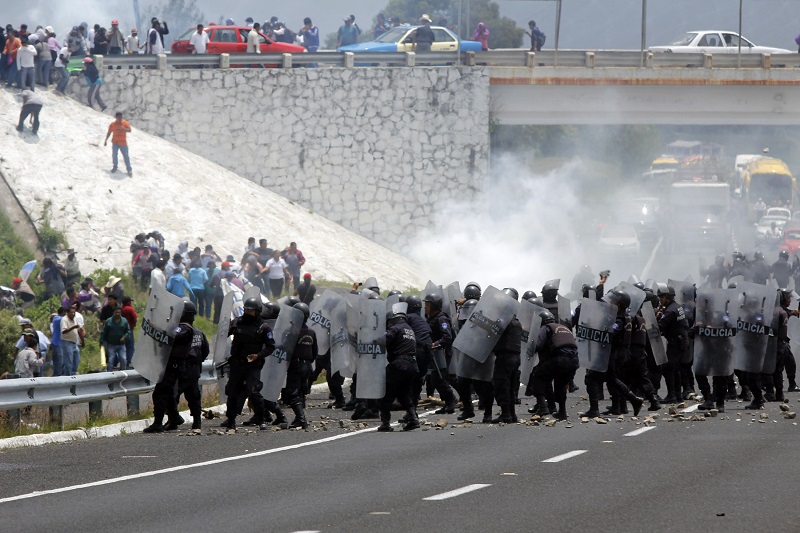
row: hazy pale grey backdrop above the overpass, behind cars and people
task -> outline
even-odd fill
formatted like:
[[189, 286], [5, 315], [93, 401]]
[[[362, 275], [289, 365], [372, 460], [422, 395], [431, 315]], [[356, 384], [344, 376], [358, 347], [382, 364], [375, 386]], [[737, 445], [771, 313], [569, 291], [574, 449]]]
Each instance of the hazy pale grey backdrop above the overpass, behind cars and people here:
[[[462, 0], [467, 2], [468, 0]], [[798, 0], [743, 0], [742, 34], [756, 44], [796, 49], [794, 37]], [[4, 2], [9, 4], [10, 2]], [[500, 13], [516, 20], [524, 28], [535, 19], [547, 34], [545, 48], [555, 45], [555, 2], [536, 0], [499, 0]], [[33, 5], [32, 5], [33, 4]], [[160, 1], [140, 0], [144, 8]], [[231, 17], [239, 23], [252, 16], [264, 21], [275, 15], [297, 30], [303, 18], [311, 17], [323, 35], [332, 33], [350, 14], [356, 22], [369, 27], [369, 21], [382, 10], [381, 0], [294, 0], [279, 7], [264, 8], [263, 0], [197, 0], [207, 21]], [[276, 4], [273, 4], [276, 5]], [[37, 0], [0, 8], [0, 22], [18, 26], [22, 22], [52, 25], [57, 32], [86, 21], [109, 25], [112, 18], [121, 21], [127, 33], [134, 23], [133, 0], [86, 1]], [[223, 6], [225, 8], [223, 9]], [[641, 41], [642, 0], [563, 0], [561, 48], [638, 49]], [[668, 44], [681, 33], [693, 29], [733, 30], [738, 28], [738, 0], [648, 0], [647, 45]], [[76, 16], [79, 13], [79, 16]], [[598, 22], [599, 21], [599, 22]], [[477, 21], [475, 21], [477, 23]], [[490, 28], [491, 30], [491, 28]], [[175, 28], [175, 33], [182, 29]]]

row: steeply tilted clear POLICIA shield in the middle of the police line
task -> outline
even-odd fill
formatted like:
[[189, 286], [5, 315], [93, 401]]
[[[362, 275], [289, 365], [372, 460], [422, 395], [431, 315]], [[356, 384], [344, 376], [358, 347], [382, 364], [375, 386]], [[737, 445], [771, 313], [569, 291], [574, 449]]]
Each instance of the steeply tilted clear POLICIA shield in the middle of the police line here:
[[519, 302], [490, 285], [456, 335], [453, 347], [479, 363], [486, 361], [518, 308]]

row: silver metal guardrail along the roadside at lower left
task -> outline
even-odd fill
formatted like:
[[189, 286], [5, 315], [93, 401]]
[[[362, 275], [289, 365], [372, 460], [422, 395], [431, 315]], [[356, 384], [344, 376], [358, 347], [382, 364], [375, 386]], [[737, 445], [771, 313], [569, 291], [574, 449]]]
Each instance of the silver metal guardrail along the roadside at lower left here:
[[[214, 364], [205, 361], [200, 374], [200, 384], [216, 383]], [[154, 383], [142, 377], [136, 370], [98, 372], [80, 376], [8, 379], [0, 381], [0, 410], [110, 400], [145, 394], [154, 387]]]

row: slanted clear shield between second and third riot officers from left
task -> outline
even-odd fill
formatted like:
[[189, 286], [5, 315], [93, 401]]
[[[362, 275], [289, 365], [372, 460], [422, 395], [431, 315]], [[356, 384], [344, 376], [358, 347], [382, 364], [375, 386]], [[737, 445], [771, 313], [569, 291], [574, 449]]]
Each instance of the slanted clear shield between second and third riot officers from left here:
[[261, 395], [265, 400], [277, 402], [281, 389], [286, 384], [286, 371], [292, 360], [294, 348], [300, 338], [300, 328], [303, 326], [303, 312], [286, 304], [281, 305], [272, 337], [275, 339], [275, 350], [267, 356], [264, 367], [261, 369]]

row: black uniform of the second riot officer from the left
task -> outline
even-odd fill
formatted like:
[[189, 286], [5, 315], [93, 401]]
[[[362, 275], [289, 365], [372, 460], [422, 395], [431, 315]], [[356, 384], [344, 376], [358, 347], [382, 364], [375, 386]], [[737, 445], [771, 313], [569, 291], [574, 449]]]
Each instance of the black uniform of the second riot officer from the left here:
[[[275, 340], [272, 338], [272, 328], [260, 316], [251, 316], [247, 313], [233, 320], [228, 329], [228, 336], [233, 335], [231, 343], [231, 357], [229, 359], [231, 371], [225, 394], [228, 395], [227, 418], [228, 427], [236, 425], [236, 415], [239, 414], [241, 398], [250, 400], [256, 424], [264, 422], [264, 398], [261, 396], [261, 369], [264, 367], [266, 357], [275, 350]], [[247, 361], [250, 354], [258, 354], [253, 362]]]

